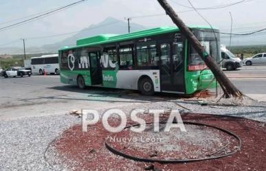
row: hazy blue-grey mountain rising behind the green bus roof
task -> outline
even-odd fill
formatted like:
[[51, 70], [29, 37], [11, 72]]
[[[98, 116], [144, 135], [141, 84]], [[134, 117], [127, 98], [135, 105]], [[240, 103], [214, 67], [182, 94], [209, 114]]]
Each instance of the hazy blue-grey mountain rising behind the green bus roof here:
[[[142, 25], [138, 25], [136, 23], [131, 23], [131, 32], [137, 30], [145, 30], [146, 27]], [[90, 25], [89, 27], [81, 30], [80, 32], [74, 34], [74, 36], [70, 36], [63, 41], [53, 43], [50, 45], [43, 45], [41, 47], [27, 47], [27, 53], [55, 53], [63, 46], [71, 46], [76, 45], [76, 41], [79, 38], [85, 38], [89, 36], [94, 36], [97, 34], [125, 34], [128, 32], [128, 23], [126, 21], [121, 21], [115, 19], [113, 17], [108, 17], [104, 19], [104, 21], [96, 24]], [[22, 48], [19, 47], [0, 47], [0, 54], [5, 54], [9, 52], [9, 54], [21, 54], [23, 52]]]

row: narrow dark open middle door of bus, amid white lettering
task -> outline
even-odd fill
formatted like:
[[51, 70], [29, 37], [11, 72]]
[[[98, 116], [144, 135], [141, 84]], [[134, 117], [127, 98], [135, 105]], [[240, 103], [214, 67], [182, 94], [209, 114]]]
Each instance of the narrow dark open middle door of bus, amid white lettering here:
[[102, 68], [99, 52], [89, 52], [91, 85], [102, 84]]

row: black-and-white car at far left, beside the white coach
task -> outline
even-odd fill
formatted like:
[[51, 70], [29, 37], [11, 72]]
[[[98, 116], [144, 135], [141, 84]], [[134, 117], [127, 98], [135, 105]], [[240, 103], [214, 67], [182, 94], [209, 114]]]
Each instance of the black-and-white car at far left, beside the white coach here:
[[22, 67], [9, 67], [7, 70], [3, 71], [3, 76], [5, 78], [8, 77], [16, 77], [16, 76], [32, 76], [32, 71], [23, 69]]

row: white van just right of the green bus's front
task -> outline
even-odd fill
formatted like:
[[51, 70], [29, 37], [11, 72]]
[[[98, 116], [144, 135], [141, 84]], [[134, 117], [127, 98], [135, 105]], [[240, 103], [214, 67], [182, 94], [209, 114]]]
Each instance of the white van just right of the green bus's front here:
[[221, 58], [223, 60], [222, 68], [226, 68], [228, 71], [242, 67], [242, 60], [226, 49], [225, 45], [221, 45]]

